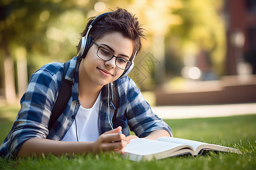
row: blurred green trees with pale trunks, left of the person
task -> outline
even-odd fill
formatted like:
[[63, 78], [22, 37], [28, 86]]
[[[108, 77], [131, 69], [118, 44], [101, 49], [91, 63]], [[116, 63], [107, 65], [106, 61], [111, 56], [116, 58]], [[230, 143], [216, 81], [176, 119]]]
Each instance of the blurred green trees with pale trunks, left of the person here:
[[18, 90], [23, 94], [27, 74], [31, 75], [44, 63], [66, 61], [76, 54], [79, 33], [93, 5], [82, 0], [0, 2], [0, 59], [1, 74], [4, 73], [0, 81], [9, 103], [15, 100], [15, 68], [21, 87]]

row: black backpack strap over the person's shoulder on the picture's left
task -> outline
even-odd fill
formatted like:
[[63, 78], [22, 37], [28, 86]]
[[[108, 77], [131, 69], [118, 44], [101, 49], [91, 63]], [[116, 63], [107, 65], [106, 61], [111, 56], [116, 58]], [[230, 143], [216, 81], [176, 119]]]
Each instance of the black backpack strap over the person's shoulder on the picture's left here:
[[65, 79], [65, 75], [67, 73], [69, 67], [69, 62], [64, 63], [63, 75], [61, 78], [59, 94], [55, 101], [54, 107], [52, 109], [52, 114], [49, 120], [48, 129], [51, 130], [53, 124], [57, 121], [57, 118], [60, 117], [60, 114], [63, 113], [64, 109], [68, 104], [68, 100], [71, 97], [72, 85], [73, 82]]

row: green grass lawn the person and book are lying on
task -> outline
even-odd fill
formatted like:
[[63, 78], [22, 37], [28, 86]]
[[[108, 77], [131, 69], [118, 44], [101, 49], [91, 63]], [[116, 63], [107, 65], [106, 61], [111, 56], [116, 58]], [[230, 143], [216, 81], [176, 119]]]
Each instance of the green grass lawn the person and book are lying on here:
[[[9, 133], [17, 112], [18, 108], [0, 107], [0, 142]], [[208, 152], [141, 163], [114, 154], [0, 158], [0, 169], [256, 169], [256, 114], [165, 121], [175, 137], [238, 148], [242, 155]]]

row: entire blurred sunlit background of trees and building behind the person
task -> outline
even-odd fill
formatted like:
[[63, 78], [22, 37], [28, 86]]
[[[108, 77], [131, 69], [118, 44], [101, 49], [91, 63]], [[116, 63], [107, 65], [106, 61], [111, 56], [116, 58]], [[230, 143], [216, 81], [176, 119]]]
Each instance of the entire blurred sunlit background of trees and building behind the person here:
[[88, 18], [116, 7], [146, 29], [129, 76], [152, 105], [256, 102], [254, 0], [2, 0], [0, 99], [20, 99], [30, 75], [76, 56]]

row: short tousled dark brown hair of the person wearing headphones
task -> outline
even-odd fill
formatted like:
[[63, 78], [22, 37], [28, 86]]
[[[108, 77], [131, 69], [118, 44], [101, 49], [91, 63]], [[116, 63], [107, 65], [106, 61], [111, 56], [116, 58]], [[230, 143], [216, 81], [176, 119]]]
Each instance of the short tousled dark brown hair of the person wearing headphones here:
[[[96, 16], [89, 18], [85, 30], [81, 33], [81, 36], [85, 36], [89, 25], [93, 22]], [[144, 29], [138, 22], [138, 18], [132, 15], [125, 9], [117, 8], [117, 10], [110, 12], [105, 16], [104, 19], [94, 23], [90, 29], [89, 36], [93, 40], [97, 40], [104, 36], [106, 33], [119, 32], [124, 37], [133, 41], [133, 56], [137, 50], [137, 53], [141, 50], [141, 38], [144, 38]]]

